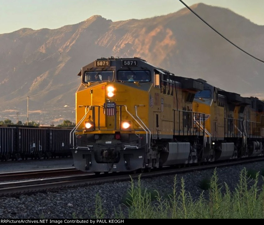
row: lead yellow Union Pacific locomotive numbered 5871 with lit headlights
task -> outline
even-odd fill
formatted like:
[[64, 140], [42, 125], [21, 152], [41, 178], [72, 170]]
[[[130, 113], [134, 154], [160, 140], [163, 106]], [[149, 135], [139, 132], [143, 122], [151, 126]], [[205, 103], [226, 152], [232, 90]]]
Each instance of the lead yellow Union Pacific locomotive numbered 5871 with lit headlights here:
[[77, 169], [149, 171], [203, 159], [205, 115], [193, 110], [202, 82], [137, 57], [96, 59], [78, 75], [71, 132]]

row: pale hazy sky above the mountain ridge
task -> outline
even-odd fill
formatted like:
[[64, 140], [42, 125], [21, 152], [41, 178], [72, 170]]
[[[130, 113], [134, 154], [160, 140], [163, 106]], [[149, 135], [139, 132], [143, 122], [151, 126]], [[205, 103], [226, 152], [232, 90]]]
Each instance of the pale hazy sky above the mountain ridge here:
[[[203, 2], [229, 8], [253, 23], [264, 25], [264, 0], [182, 1], [188, 6]], [[93, 15], [112, 21], [149, 18], [177, 12], [184, 7], [179, 0], [0, 0], [0, 34], [25, 27], [55, 29], [79, 23]]]

